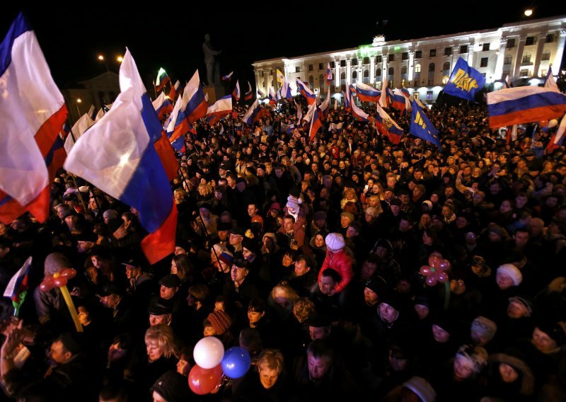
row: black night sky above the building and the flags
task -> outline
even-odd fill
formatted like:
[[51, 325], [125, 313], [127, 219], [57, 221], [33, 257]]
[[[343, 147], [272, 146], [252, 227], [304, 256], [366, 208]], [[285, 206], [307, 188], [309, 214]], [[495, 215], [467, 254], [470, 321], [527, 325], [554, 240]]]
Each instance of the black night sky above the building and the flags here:
[[[254, 60], [357, 47], [371, 43], [378, 33], [394, 40], [497, 28], [524, 21], [522, 13], [527, 6], [534, 8], [531, 18], [566, 14], [566, 4], [550, 4], [549, 0], [538, 0], [538, 4], [449, 1], [439, 6], [433, 5], [435, 1], [420, 1], [420, 6], [388, 1], [383, 11], [379, 8], [383, 2], [377, 1], [344, 1], [341, 7], [326, 6], [325, 1], [270, 1], [260, 7], [261, 13], [253, 11], [257, 7], [245, 10], [243, 2], [237, 3], [238, 10], [220, 6], [220, 2], [212, 6], [212, 1], [200, 1], [200, 6], [155, 2], [151, 8], [116, 5], [116, 1], [88, 2], [88, 8], [81, 1], [49, 2], [57, 6], [45, 3], [3, 6], [0, 35], [4, 37], [18, 11], [25, 11], [61, 88], [103, 73], [105, 67], [96, 59], [99, 53], [107, 55], [108, 67], [117, 71], [115, 57], [123, 54], [126, 46], [144, 79], [153, 79], [163, 67], [173, 80], [184, 83], [196, 68], [203, 74], [205, 33], [211, 34], [214, 49], [223, 50], [221, 74], [235, 70], [241, 79], [253, 81], [250, 62]], [[275, 3], [282, 6], [276, 8]], [[383, 27], [384, 20], [388, 23]]]

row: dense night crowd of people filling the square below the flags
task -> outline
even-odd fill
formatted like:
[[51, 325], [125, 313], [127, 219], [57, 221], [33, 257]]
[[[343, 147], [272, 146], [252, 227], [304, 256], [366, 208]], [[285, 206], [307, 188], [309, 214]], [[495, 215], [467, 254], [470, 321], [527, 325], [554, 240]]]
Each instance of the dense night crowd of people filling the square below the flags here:
[[[338, 107], [309, 142], [295, 103], [253, 126], [245, 111], [187, 134], [171, 182], [177, 246], [159, 263], [141, 253], [135, 209], [64, 171], [47, 222], [0, 224], [2, 289], [33, 257], [19, 318], [2, 304], [8, 398], [566, 400], [555, 129], [520, 126], [509, 141], [485, 105], [437, 104], [438, 149], [409, 134], [410, 113], [388, 110], [405, 130], [391, 144]], [[421, 268], [439, 261], [448, 280], [434, 285]], [[62, 268], [77, 271], [81, 333], [61, 289], [39, 286]], [[252, 365], [200, 396], [187, 376], [207, 336]]]

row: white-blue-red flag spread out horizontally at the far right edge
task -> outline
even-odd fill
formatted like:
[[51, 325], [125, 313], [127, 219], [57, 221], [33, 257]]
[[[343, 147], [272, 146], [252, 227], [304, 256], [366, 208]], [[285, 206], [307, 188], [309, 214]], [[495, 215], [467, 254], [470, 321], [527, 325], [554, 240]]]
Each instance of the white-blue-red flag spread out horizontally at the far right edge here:
[[558, 119], [565, 111], [566, 96], [554, 88], [519, 86], [487, 93], [491, 128]]

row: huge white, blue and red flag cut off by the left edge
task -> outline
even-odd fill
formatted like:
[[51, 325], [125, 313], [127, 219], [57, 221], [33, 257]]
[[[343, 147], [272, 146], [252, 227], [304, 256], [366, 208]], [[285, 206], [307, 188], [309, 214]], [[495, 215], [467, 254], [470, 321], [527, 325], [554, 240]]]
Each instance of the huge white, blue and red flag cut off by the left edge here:
[[61, 161], [67, 108], [22, 14], [0, 43], [0, 95], [0, 220], [9, 224], [29, 211], [43, 222], [49, 216], [46, 163]]

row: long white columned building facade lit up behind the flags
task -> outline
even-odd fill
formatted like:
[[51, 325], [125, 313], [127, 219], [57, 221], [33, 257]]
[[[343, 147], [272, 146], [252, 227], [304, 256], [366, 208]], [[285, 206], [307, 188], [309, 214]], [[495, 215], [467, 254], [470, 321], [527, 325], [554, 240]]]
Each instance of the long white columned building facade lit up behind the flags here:
[[[419, 98], [435, 101], [458, 57], [485, 76], [486, 83], [505, 79], [544, 78], [549, 67], [558, 74], [566, 40], [566, 16], [509, 23], [501, 28], [441, 35], [415, 40], [386, 41], [376, 36], [371, 45], [352, 49], [281, 57], [254, 62], [255, 85], [263, 93], [277, 88], [275, 71], [284, 72], [293, 94], [297, 78], [324, 97], [326, 68], [333, 73], [330, 91], [340, 98], [348, 84], [363, 82], [381, 88], [405, 86]], [[533, 80], [538, 84], [539, 80]], [[497, 85], [497, 84], [496, 84]]]

